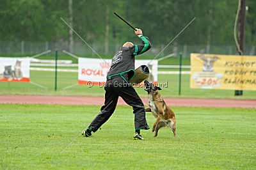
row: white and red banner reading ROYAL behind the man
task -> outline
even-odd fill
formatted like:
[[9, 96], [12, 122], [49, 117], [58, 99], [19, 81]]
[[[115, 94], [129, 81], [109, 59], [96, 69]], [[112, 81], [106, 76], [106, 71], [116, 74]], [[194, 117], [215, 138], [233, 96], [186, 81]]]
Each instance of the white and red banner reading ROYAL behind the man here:
[[[148, 65], [148, 63], [150, 64]], [[157, 60], [135, 60], [135, 68], [138, 68], [140, 65], [148, 65], [150, 70], [148, 81], [153, 81], [154, 83], [157, 83], [157, 64]], [[109, 72], [109, 66], [111, 66], [111, 59], [78, 58], [78, 84], [90, 86], [104, 84]]]

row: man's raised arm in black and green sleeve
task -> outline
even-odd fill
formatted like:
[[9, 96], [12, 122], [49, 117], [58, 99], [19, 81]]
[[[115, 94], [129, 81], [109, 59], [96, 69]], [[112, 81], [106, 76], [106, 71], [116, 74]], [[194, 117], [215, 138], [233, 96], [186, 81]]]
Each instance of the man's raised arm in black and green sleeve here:
[[134, 56], [143, 54], [151, 48], [151, 43], [147, 36], [143, 36], [141, 29], [136, 28], [135, 34], [141, 39], [141, 45], [134, 45], [132, 47], [132, 54]]

